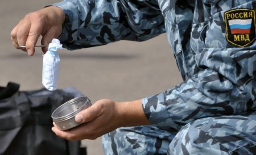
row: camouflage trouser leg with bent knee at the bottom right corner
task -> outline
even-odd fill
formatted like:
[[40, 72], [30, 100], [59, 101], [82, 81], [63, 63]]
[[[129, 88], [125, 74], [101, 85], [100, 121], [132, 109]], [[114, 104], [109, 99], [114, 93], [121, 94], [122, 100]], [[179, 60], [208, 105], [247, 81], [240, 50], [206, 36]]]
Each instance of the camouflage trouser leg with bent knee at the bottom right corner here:
[[172, 140], [169, 154], [255, 154], [256, 111], [188, 123]]

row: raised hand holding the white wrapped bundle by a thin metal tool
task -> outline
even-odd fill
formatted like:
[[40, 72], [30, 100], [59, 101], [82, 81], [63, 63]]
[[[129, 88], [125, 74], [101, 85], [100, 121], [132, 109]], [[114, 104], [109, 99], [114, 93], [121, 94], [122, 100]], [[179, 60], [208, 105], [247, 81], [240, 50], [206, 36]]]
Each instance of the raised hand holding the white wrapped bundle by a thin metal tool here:
[[[15, 48], [27, 51], [27, 54], [32, 56], [39, 37], [42, 36], [42, 45], [48, 45], [53, 38], [60, 36], [64, 21], [63, 10], [56, 6], [31, 12], [13, 28], [11, 41]], [[26, 45], [26, 48], [20, 48], [20, 45]], [[47, 52], [47, 48], [42, 48], [42, 51]]]

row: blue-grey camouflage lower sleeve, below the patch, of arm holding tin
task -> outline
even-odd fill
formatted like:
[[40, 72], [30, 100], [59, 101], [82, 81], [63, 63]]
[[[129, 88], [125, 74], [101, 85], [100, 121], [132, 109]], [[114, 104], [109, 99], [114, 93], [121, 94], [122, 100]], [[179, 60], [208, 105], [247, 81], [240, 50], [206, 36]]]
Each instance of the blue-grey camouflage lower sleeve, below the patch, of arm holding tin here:
[[199, 118], [255, 110], [255, 50], [209, 49], [195, 58], [200, 70], [194, 77], [142, 100], [153, 124], [170, 131]]

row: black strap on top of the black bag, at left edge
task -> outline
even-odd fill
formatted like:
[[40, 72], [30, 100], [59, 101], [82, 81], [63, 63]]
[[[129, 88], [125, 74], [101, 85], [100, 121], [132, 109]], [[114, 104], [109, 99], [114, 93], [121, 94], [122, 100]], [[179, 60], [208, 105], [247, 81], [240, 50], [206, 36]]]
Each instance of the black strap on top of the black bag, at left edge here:
[[6, 87], [0, 87], [0, 99], [9, 98], [19, 90], [19, 84], [9, 82]]

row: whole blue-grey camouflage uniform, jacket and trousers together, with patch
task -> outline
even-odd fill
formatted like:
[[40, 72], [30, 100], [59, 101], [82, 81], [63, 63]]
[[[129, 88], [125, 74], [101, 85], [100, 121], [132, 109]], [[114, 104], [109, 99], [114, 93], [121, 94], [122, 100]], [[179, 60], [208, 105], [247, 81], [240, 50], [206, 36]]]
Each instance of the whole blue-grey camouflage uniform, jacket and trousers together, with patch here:
[[144, 98], [150, 126], [103, 138], [106, 154], [256, 154], [256, 1], [62, 1], [68, 49], [167, 33], [183, 83]]

